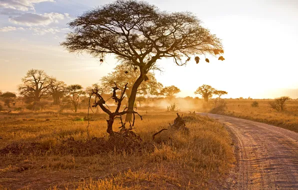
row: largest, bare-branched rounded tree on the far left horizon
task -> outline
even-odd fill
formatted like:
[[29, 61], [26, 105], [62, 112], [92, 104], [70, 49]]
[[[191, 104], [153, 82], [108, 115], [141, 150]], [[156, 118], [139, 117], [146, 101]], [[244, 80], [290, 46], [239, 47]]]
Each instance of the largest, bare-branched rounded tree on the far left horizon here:
[[18, 85], [19, 94], [33, 101], [33, 109], [36, 109], [39, 107], [40, 99], [48, 97], [52, 83], [50, 77], [43, 70], [30, 69], [21, 80], [23, 83]]

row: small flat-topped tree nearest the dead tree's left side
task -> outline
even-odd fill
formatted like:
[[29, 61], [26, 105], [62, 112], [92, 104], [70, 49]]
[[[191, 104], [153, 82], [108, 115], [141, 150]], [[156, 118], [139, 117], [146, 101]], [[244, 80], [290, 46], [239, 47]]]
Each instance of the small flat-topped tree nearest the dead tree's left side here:
[[76, 113], [77, 108], [80, 103], [81, 96], [85, 95], [85, 91], [82, 90], [83, 87], [79, 84], [72, 84], [67, 86], [66, 91], [68, 94], [68, 105], [73, 112]]

